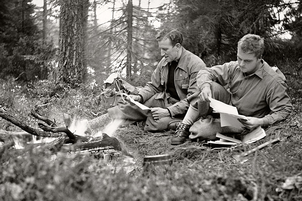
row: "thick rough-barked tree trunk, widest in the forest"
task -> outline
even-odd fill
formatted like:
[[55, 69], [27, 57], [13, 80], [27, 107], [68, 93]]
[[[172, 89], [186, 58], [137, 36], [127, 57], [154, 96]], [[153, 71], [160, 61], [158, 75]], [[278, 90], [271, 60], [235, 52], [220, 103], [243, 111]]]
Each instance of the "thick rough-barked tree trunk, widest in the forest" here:
[[61, 0], [59, 82], [83, 82], [83, 0]]

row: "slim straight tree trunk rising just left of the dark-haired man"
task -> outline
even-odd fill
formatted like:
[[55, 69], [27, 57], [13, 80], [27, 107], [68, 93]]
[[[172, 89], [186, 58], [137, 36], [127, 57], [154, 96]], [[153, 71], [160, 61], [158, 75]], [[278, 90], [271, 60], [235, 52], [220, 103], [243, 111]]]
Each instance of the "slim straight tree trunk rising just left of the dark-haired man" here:
[[131, 62], [132, 62], [132, 21], [133, 21], [133, 5], [132, 5], [132, 0], [128, 1], [127, 5], [127, 13], [128, 13], [128, 18], [127, 18], [127, 70], [126, 70], [126, 75], [127, 78], [131, 78]]

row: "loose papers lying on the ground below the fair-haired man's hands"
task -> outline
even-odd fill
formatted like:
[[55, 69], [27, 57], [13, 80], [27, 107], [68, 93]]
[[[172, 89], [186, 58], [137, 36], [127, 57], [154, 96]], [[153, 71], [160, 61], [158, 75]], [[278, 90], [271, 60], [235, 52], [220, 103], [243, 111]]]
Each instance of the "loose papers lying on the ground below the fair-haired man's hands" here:
[[219, 144], [219, 145], [250, 144], [264, 138], [265, 136], [266, 136], [265, 131], [259, 126], [255, 130], [245, 135], [242, 140], [238, 140], [235, 138], [221, 135], [220, 133], [216, 133], [216, 137], [220, 139], [216, 141], [208, 141], [208, 143]]

